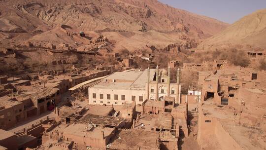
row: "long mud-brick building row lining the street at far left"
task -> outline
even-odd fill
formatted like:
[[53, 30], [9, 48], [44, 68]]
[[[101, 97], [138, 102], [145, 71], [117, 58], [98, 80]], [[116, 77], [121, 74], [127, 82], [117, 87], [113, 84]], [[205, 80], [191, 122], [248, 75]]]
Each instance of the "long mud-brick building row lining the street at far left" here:
[[52, 111], [60, 99], [59, 89], [51, 87], [0, 97], [0, 129], [9, 129], [32, 116]]

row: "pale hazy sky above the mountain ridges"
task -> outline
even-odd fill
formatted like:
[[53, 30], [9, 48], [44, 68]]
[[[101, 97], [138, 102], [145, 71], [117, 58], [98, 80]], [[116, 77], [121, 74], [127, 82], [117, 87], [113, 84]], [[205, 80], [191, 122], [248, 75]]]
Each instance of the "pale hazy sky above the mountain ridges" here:
[[172, 7], [233, 23], [258, 9], [266, 8], [266, 0], [159, 0]]

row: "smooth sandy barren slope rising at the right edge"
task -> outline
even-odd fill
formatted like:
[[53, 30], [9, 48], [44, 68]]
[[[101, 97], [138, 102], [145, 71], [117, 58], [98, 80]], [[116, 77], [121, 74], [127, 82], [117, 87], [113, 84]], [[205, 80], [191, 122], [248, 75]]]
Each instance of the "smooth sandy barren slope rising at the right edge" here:
[[266, 48], [266, 9], [258, 10], [233, 23], [221, 33], [207, 38], [199, 45], [205, 49], [235, 45], [254, 45]]

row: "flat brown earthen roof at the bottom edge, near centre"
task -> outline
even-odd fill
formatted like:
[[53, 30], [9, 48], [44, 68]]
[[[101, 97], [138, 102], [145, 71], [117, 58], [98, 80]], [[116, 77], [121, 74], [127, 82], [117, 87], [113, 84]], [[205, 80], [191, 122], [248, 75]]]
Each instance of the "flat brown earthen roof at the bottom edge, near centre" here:
[[159, 133], [143, 130], [118, 130], [107, 148], [117, 150], [160, 150]]

